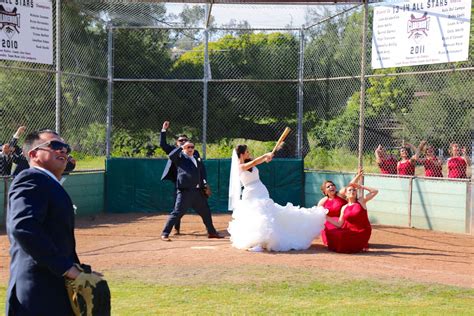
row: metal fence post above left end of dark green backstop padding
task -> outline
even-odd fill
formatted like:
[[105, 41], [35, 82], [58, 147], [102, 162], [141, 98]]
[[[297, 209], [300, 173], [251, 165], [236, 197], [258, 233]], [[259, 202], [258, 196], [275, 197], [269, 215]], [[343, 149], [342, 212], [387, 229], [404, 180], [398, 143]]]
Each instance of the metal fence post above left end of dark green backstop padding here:
[[110, 158], [112, 149], [112, 103], [114, 84], [114, 62], [113, 62], [113, 27], [107, 26], [107, 123], [106, 123], [106, 145], [105, 155]]

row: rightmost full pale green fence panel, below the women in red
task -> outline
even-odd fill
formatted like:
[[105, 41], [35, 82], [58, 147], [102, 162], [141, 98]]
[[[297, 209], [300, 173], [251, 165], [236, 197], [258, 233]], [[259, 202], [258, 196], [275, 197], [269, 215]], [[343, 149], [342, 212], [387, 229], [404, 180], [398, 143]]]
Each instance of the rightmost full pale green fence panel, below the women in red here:
[[467, 198], [466, 182], [414, 179], [412, 226], [464, 233]]

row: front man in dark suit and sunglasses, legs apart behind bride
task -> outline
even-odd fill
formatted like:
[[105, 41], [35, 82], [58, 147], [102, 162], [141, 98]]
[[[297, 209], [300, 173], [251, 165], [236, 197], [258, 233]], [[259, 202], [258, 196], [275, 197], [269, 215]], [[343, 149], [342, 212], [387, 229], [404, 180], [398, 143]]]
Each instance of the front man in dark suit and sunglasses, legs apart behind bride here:
[[174, 149], [169, 158], [176, 167], [176, 202], [161, 233], [161, 239], [170, 241], [169, 234], [173, 225], [189, 208], [193, 208], [201, 216], [209, 238], [223, 238], [214, 228], [211, 210], [202, 191], [207, 185], [206, 168], [201, 158], [194, 156], [194, 144], [187, 141]]

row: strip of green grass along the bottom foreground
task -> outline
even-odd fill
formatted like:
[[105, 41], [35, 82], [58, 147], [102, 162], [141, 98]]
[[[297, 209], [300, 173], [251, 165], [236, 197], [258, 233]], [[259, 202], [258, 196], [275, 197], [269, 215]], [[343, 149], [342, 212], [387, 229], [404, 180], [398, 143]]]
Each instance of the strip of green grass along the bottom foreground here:
[[[350, 280], [347, 275], [315, 274], [298, 268], [288, 271], [283, 267], [279, 268], [277, 280], [271, 274], [279, 273], [279, 269], [266, 272], [265, 267], [260, 267], [260, 275], [254, 280], [256, 271], [249, 270], [249, 275], [232, 282], [226, 278], [205, 280], [199, 273], [192, 273], [192, 267], [183, 269], [183, 276], [176, 282], [160, 278], [140, 281], [113, 273], [108, 277], [112, 314], [469, 315], [474, 308], [474, 290], [451, 286], [401, 280]], [[5, 286], [0, 288], [1, 310], [5, 290]]]

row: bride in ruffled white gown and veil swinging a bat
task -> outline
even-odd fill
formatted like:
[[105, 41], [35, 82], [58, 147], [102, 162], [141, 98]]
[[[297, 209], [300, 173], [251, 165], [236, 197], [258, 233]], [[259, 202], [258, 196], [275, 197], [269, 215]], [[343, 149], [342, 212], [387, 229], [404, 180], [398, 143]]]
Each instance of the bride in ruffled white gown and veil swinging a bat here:
[[227, 229], [232, 246], [251, 251], [308, 249], [324, 228], [326, 210], [274, 203], [256, 167], [272, 158], [273, 154], [267, 153], [251, 160], [247, 145], [233, 150], [229, 184], [229, 210], [233, 213]]

